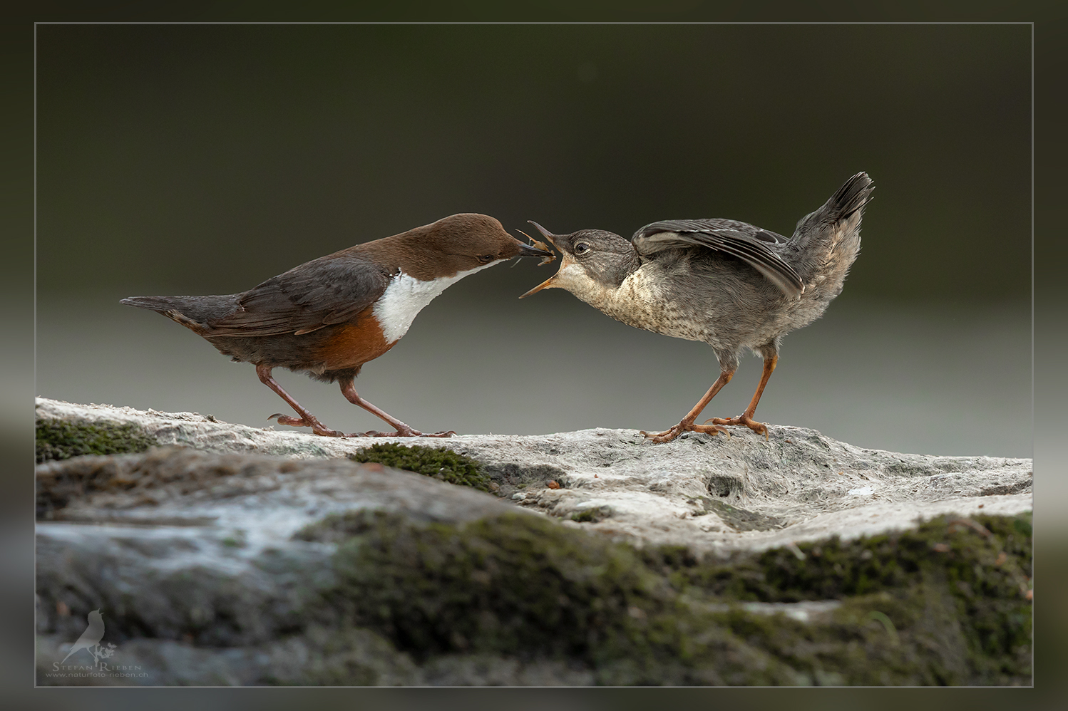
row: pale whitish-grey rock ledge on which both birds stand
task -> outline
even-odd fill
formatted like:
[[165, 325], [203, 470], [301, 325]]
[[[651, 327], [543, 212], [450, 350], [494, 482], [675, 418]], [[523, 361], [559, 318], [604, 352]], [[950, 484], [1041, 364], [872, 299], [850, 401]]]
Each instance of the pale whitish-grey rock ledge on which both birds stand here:
[[[944, 514], [1031, 510], [1032, 460], [862, 449], [799, 427], [649, 444], [637, 430], [447, 440], [335, 439], [38, 398], [41, 418], [123, 422], [160, 444], [296, 459], [340, 458], [375, 442], [449, 447], [483, 463], [498, 494], [602, 533], [698, 550], [763, 550], [910, 527]], [[548, 488], [555, 481], [559, 489]], [[981, 509], [980, 509], [981, 507]]]

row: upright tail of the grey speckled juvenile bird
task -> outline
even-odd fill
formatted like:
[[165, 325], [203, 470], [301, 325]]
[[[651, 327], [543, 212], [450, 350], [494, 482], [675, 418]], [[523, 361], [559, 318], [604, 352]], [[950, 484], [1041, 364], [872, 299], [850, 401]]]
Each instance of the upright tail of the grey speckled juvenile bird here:
[[858, 173], [815, 212], [798, 221], [788, 242], [789, 262], [805, 284], [805, 298], [833, 299], [842, 291], [861, 249], [861, 218], [875, 183]]

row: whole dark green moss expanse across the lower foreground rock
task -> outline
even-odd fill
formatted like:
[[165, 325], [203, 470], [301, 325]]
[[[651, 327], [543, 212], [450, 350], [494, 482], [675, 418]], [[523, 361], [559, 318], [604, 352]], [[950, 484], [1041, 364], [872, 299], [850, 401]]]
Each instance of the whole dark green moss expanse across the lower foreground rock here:
[[[1030, 525], [951, 517], [702, 560], [518, 512], [366, 512], [330, 527], [317, 611], [419, 660], [564, 659], [608, 684], [1028, 684]], [[839, 604], [808, 621], [743, 607], [803, 600]]]

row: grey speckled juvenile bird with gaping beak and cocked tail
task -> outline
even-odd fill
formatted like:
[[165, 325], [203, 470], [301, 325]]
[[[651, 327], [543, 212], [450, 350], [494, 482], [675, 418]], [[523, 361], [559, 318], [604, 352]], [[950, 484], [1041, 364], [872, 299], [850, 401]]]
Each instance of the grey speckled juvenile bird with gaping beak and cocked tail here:
[[[523, 297], [545, 288], [567, 289], [628, 326], [712, 347], [720, 377], [681, 422], [657, 434], [643, 431], [646, 438], [669, 442], [687, 430], [727, 432], [723, 425], [745, 425], [767, 438], [767, 425], [754, 422], [753, 413], [775, 369], [780, 342], [819, 318], [842, 293], [860, 250], [861, 217], [874, 189], [871, 178], [858, 173], [826, 205], [802, 218], [789, 239], [722, 219], [654, 222], [629, 242], [602, 230], [553, 235], [532, 222], [563, 258], [553, 276]], [[731, 381], [744, 348], [764, 359], [764, 375], [749, 407], [737, 417], [694, 424]]]

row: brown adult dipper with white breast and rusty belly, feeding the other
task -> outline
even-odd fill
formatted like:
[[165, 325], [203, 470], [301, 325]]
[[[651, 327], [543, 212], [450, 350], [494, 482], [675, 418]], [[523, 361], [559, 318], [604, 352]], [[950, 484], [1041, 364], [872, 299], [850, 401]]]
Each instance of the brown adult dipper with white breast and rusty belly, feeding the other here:
[[[431, 224], [313, 259], [258, 286], [227, 296], [129, 297], [205, 337], [233, 361], [253, 363], [261, 382], [298, 417], [280, 424], [311, 427], [327, 437], [449, 437], [423, 434], [360, 397], [352, 380], [411, 326], [415, 314], [468, 274], [519, 256], [552, 256], [504, 232], [486, 215], [453, 215]], [[277, 367], [337, 382], [354, 405], [395, 432], [343, 432], [325, 427], [271, 377]]]

